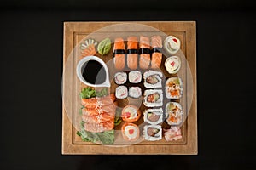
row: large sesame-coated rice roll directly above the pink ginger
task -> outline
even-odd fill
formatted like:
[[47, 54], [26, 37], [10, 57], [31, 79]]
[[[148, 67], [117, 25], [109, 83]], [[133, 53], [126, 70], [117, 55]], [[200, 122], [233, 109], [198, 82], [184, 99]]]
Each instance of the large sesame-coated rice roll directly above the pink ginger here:
[[166, 104], [166, 122], [169, 125], [179, 125], [183, 121], [183, 109], [177, 102]]

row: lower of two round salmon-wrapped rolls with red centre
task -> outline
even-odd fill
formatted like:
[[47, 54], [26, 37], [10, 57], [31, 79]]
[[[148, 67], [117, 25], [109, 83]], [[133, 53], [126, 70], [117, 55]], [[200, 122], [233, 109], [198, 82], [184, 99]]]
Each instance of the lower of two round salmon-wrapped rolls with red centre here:
[[140, 137], [140, 129], [134, 123], [125, 122], [122, 126], [122, 136], [127, 141], [136, 141]]

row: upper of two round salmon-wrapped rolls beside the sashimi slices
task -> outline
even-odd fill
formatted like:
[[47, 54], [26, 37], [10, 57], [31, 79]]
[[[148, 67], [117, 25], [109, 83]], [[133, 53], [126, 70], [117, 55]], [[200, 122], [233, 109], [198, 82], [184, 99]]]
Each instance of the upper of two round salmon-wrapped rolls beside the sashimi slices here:
[[142, 112], [135, 105], [126, 105], [122, 110], [122, 119], [125, 122], [137, 122]]

